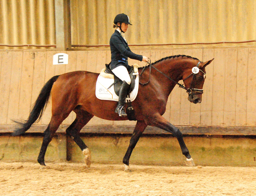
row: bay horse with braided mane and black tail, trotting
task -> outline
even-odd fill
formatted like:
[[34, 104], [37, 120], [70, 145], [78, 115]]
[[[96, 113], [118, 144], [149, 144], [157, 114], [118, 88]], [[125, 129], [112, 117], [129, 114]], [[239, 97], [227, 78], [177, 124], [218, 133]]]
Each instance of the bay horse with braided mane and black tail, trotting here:
[[[155, 126], [172, 133], [178, 139], [182, 154], [186, 157], [186, 165], [195, 166], [184, 143], [182, 133], [162, 115], [166, 111], [168, 96], [176, 84], [188, 92], [190, 102], [194, 104], [201, 102], [206, 75], [205, 67], [212, 60], [201, 62], [191, 56], [176, 55], [162, 58], [143, 68], [138, 68], [140, 74], [139, 90], [136, 99], [132, 102], [137, 123], [123, 158], [125, 170], [130, 169], [129, 159], [132, 150], [147, 126]], [[197, 67], [198, 72], [193, 71], [195, 67]], [[52, 96], [52, 117], [44, 131], [42, 147], [37, 159], [41, 166], [46, 166], [44, 156], [47, 146], [70, 112], [76, 113], [76, 119], [66, 129], [66, 134], [72, 137], [81, 148], [85, 156], [84, 162], [88, 167], [91, 164], [91, 152], [80, 138], [80, 130], [93, 116], [105, 120], [128, 120], [127, 117], [120, 117], [115, 113], [117, 102], [96, 98], [95, 89], [98, 76], [98, 73], [75, 71], [52, 77], [42, 88], [28, 120], [16, 121], [21, 127], [14, 130], [13, 135], [24, 134], [34, 122], [40, 120], [50, 95]], [[179, 80], [183, 80], [184, 86], [178, 83]], [[143, 83], [143, 81], [146, 82]]]

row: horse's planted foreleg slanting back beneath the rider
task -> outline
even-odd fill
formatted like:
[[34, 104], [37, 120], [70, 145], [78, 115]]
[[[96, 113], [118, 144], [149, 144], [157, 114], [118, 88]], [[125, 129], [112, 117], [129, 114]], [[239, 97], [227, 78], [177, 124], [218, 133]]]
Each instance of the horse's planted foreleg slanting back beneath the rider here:
[[130, 169], [129, 160], [130, 160], [130, 156], [132, 154], [132, 150], [136, 146], [138, 140], [140, 139], [140, 136], [142, 135], [142, 133], [144, 132], [146, 127], [147, 127], [147, 125], [144, 121], [137, 121], [137, 124], [136, 124], [133, 134], [132, 134], [132, 138], [130, 139], [129, 147], [128, 147], [126, 154], [124, 155], [124, 159], [123, 159], [123, 163], [125, 164], [125, 170]]

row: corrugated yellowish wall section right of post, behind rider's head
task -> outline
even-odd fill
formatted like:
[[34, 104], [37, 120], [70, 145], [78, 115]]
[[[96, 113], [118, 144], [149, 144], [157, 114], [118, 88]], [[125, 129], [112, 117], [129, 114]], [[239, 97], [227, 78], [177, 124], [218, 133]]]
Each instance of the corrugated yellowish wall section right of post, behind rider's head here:
[[126, 32], [129, 44], [256, 38], [255, 0], [72, 0], [72, 45], [109, 44], [119, 13], [133, 24]]

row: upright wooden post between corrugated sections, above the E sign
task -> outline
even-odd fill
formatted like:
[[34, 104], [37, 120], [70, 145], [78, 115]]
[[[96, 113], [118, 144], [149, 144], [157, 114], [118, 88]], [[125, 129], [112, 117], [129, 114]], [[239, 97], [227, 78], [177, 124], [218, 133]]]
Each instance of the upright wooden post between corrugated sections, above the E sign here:
[[55, 0], [56, 49], [71, 48], [70, 0]]

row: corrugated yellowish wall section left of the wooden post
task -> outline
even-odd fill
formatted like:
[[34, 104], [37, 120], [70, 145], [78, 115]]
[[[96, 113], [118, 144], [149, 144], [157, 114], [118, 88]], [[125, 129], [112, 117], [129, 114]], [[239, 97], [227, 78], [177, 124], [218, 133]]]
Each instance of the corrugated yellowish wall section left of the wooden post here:
[[56, 42], [54, 0], [1, 0], [0, 21], [0, 44]]

